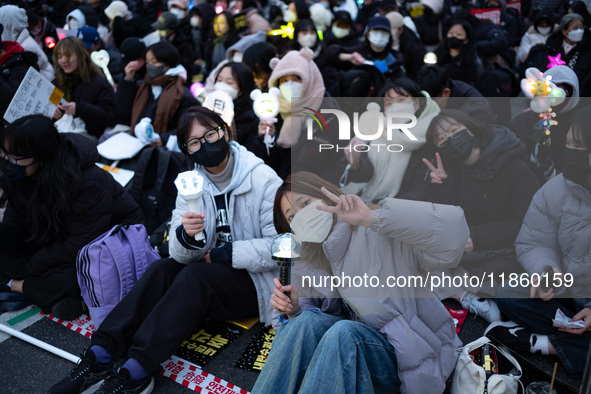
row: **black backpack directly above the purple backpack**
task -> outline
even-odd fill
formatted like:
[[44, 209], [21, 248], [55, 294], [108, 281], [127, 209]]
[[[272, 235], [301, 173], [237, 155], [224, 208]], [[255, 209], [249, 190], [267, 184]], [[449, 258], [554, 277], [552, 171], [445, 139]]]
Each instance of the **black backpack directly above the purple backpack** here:
[[142, 152], [135, 168], [131, 196], [144, 212], [148, 234], [172, 215], [177, 196], [174, 181], [180, 172], [188, 169], [189, 162], [182, 153], [156, 147]]

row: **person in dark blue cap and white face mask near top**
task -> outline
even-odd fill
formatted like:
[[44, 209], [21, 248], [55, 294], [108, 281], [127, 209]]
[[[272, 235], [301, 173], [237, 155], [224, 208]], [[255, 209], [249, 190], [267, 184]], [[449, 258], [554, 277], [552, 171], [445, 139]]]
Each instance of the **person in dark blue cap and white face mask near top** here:
[[329, 65], [339, 70], [371, 62], [386, 78], [404, 77], [403, 57], [392, 48], [390, 21], [385, 16], [374, 16], [367, 25], [365, 41], [357, 47], [333, 45], [327, 50]]

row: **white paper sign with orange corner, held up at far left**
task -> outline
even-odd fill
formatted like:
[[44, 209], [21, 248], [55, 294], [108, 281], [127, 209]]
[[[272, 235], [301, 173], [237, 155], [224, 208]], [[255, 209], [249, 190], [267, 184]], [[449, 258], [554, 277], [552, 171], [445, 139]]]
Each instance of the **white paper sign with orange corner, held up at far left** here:
[[12, 98], [4, 119], [12, 123], [23, 116], [33, 114], [51, 118], [63, 96], [61, 90], [31, 67]]

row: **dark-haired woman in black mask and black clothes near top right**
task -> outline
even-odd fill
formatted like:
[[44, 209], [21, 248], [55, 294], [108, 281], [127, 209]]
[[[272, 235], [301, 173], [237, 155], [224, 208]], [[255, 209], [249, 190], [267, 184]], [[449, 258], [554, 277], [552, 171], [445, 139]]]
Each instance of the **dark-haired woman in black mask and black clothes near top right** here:
[[473, 85], [482, 72], [482, 62], [476, 55], [476, 37], [468, 22], [456, 21], [443, 42], [435, 49], [437, 65], [450, 79]]

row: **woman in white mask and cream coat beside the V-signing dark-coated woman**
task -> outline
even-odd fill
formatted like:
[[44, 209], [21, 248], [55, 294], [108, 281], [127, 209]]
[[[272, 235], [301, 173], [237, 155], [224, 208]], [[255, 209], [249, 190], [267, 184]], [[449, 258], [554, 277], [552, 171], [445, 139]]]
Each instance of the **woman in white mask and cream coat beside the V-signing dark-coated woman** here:
[[[374, 175], [360, 195], [368, 204], [381, 204], [384, 198], [397, 196], [406, 178], [421, 178], [415, 173], [422, 164], [421, 159], [425, 157], [425, 135], [431, 119], [440, 112], [437, 103], [428, 96], [427, 92], [421, 91], [419, 86], [408, 78], [397, 79], [394, 83], [386, 84], [381, 90], [378, 97], [384, 98], [384, 112], [407, 113], [417, 118], [417, 125], [412, 128], [412, 134], [417, 140], [411, 141], [404, 133], [394, 132], [390, 140], [387, 139], [387, 134], [383, 133], [382, 137], [375, 141], [376, 144], [400, 144], [404, 150], [395, 154], [376, 149], [368, 152]], [[394, 121], [408, 123], [410, 119], [397, 117]]]

